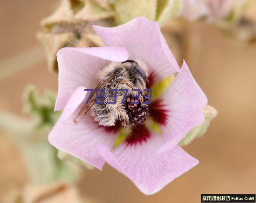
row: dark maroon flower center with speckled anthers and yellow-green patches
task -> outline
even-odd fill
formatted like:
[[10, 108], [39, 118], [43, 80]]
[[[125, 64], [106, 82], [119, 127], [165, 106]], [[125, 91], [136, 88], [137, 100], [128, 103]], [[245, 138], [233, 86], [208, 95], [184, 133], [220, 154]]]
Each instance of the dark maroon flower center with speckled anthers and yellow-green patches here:
[[[146, 87], [152, 89], [152, 92], [159, 92], [159, 88], [162, 88], [165, 83], [163, 85], [161, 83], [154, 84], [154, 78], [154, 72], [149, 74]], [[164, 89], [165, 87], [163, 86], [161, 90]], [[148, 101], [148, 97], [143, 97], [143, 101]], [[121, 130], [123, 121], [120, 120], [116, 121], [115, 126], [105, 127], [107, 133], [119, 134], [115, 146], [118, 146], [122, 141], [125, 141], [127, 145], [142, 144], [151, 137], [151, 133], [159, 133], [156, 130], [159, 129], [158, 126], [167, 124], [169, 110], [163, 103], [163, 99], [154, 99], [150, 104], [142, 104], [141, 101], [138, 104], [131, 104], [131, 102], [137, 102], [137, 98], [127, 96], [124, 101], [125, 110], [129, 118], [126, 123], [128, 129]], [[148, 124], [144, 123], [146, 119], [149, 121]]]

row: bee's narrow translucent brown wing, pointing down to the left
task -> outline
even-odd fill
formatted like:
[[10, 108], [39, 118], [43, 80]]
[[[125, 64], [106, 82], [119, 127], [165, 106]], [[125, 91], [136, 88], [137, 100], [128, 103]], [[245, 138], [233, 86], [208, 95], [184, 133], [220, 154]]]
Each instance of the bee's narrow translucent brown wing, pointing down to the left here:
[[96, 91], [97, 89], [103, 89], [108, 85], [108, 83], [114, 78], [114, 75], [112, 74], [109, 76], [107, 79], [105, 79], [103, 82], [100, 82], [95, 89], [93, 90], [92, 96], [90, 97], [90, 100], [88, 101], [87, 104], [84, 104], [79, 113], [77, 114], [76, 118], [74, 119], [74, 122], [77, 124], [79, 123], [84, 116], [87, 114], [87, 112], [90, 110], [90, 108], [93, 106], [95, 103], [96, 99]]

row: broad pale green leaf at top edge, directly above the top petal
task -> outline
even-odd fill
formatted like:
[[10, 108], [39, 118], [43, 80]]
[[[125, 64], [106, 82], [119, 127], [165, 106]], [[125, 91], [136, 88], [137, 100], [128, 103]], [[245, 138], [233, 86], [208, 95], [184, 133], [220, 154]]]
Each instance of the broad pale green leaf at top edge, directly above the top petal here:
[[157, 0], [118, 0], [114, 4], [114, 9], [118, 24], [127, 23], [139, 16], [155, 20]]

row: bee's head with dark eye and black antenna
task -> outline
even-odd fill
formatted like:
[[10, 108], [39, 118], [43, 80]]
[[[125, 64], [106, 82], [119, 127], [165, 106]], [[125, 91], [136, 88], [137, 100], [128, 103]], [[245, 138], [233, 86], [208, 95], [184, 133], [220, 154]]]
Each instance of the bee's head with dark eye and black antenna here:
[[142, 68], [140, 68], [138, 63], [132, 60], [127, 60], [122, 63], [129, 63], [128, 72], [130, 80], [134, 86], [141, 90], [145, 89], [146, 73]]

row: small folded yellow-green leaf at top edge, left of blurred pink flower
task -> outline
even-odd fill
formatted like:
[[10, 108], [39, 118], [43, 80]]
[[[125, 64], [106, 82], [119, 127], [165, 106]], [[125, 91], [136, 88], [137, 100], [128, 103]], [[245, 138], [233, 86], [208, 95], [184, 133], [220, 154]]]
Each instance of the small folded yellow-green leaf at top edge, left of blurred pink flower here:
[[165, 23], [174, 17], [177, 17], [182, 11], [182, 0], [158, 0], [156, 21], [162, 27]]

